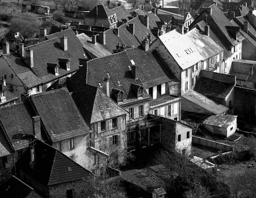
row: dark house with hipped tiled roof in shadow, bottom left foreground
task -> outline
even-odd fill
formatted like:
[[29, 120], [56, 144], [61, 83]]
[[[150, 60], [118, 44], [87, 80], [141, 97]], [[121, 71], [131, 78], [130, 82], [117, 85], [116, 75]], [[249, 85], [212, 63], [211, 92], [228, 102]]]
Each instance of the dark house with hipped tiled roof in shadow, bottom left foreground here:
[[93, 174], [62, 152], [40, 140], [18, 160], [19, 178], [43, 197], [87, 197], [88, 180]]

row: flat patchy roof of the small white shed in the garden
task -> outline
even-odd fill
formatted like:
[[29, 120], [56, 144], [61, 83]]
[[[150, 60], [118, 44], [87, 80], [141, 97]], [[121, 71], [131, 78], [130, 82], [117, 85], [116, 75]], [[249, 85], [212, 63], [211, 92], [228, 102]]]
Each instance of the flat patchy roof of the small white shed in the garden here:
[[237, 116], [217, 115], [211, 116], [203, 121], [205, 125], [213, 125], [223, 128], [228, 128], [237, 119]]

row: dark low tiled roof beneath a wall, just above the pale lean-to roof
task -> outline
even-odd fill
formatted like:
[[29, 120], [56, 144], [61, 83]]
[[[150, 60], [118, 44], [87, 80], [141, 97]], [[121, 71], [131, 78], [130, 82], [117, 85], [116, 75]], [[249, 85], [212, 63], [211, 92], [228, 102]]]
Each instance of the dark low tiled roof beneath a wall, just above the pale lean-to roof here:
[[194, 90], [209, 98], [225, 99], [229, 92], [234, 88], [234, 84], [221, 82], [213, 79], [201, 77], [195, 84]]

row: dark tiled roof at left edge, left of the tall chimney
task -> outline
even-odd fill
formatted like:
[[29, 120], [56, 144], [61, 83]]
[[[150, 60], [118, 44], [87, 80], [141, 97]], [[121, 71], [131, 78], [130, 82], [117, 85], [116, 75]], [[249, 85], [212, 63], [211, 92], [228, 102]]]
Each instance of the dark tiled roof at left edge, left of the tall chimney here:
[[27, 148], [29, 140], [16, 138], [17, 134], [33, 135], [32, 117], [36, 116], [30, 104], [19, 103], [0, 108], [0, 121], [14, 150]]

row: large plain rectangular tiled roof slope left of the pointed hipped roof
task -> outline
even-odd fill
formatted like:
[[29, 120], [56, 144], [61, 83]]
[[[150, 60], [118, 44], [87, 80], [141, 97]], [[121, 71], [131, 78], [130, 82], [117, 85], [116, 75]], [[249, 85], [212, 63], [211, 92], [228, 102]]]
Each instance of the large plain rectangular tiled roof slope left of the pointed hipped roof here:
[[65, 87], [30, 97], [52, 142], [91, 133]]

